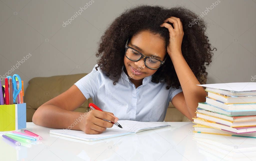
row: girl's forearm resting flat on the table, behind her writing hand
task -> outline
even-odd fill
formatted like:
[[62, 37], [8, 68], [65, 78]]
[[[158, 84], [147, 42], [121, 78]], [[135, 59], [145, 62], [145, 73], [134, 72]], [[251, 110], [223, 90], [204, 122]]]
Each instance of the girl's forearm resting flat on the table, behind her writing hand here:
[[80, 130], [79, 125], [84, 117], [84, 113], [67, 111], [48, 104], [36, 110], [32, 121], [36, 125], [49, 128]]

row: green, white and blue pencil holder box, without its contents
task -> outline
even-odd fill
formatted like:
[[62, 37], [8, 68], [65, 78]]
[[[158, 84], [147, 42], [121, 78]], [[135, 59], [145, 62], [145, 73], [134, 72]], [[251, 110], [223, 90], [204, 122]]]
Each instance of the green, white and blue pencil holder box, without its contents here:
[[0, 131], [26, 128], [26, 103], [0, 105]]

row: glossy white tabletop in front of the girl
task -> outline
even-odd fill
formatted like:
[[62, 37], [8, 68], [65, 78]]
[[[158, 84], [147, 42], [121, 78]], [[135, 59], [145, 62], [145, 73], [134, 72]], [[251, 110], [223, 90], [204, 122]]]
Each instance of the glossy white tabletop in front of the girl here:
[[172, 127], [93, 142], [66, 140], [27, 123], [42, 142], [15, 147], [1, 137], [0, 160], [256, 160], [256, 139], [193, 133], [191, 122], [154, 123]]

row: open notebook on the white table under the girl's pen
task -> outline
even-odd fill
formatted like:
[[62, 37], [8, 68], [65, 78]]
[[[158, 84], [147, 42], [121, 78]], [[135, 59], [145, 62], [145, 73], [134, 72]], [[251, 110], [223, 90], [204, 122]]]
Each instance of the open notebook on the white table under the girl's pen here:
[[123, 128], [113, 125], [112, 128], [107, 128], [106, 131], [101, 134], [86, 134], [83, 131], [78, 130], [50, 130], [50, 134], [60, 135], [64, 137], [80, 139], [85, 141], [101, 140], [106, 138], [112, 138], [117, 136], [129, 135], [143, 130], [158, 129], [163, 127], [168, 127], [170, 125], [163, 124], [152, 124], [147, 122], [138, 122], [132, 120], [119, 120], [118, 123], [122, 125]]

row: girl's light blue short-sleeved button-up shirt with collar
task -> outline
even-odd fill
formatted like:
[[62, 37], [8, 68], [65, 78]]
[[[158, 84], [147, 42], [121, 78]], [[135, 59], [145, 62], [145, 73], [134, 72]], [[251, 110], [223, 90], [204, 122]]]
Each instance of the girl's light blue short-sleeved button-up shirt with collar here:
[[103, 111], [112, 112], [119, 120], [162, 122], [169, 102], [182, 92], [181, 87], [166, 89], [165, 82], [151, 82], [152, 76], [145, 77], [142, 85], [135, 88], [123, 69], [118, 83], [113, 85], [113, 81], [95, 66], [75, 85], [85, 98], [92, 98], [94, 104]]

